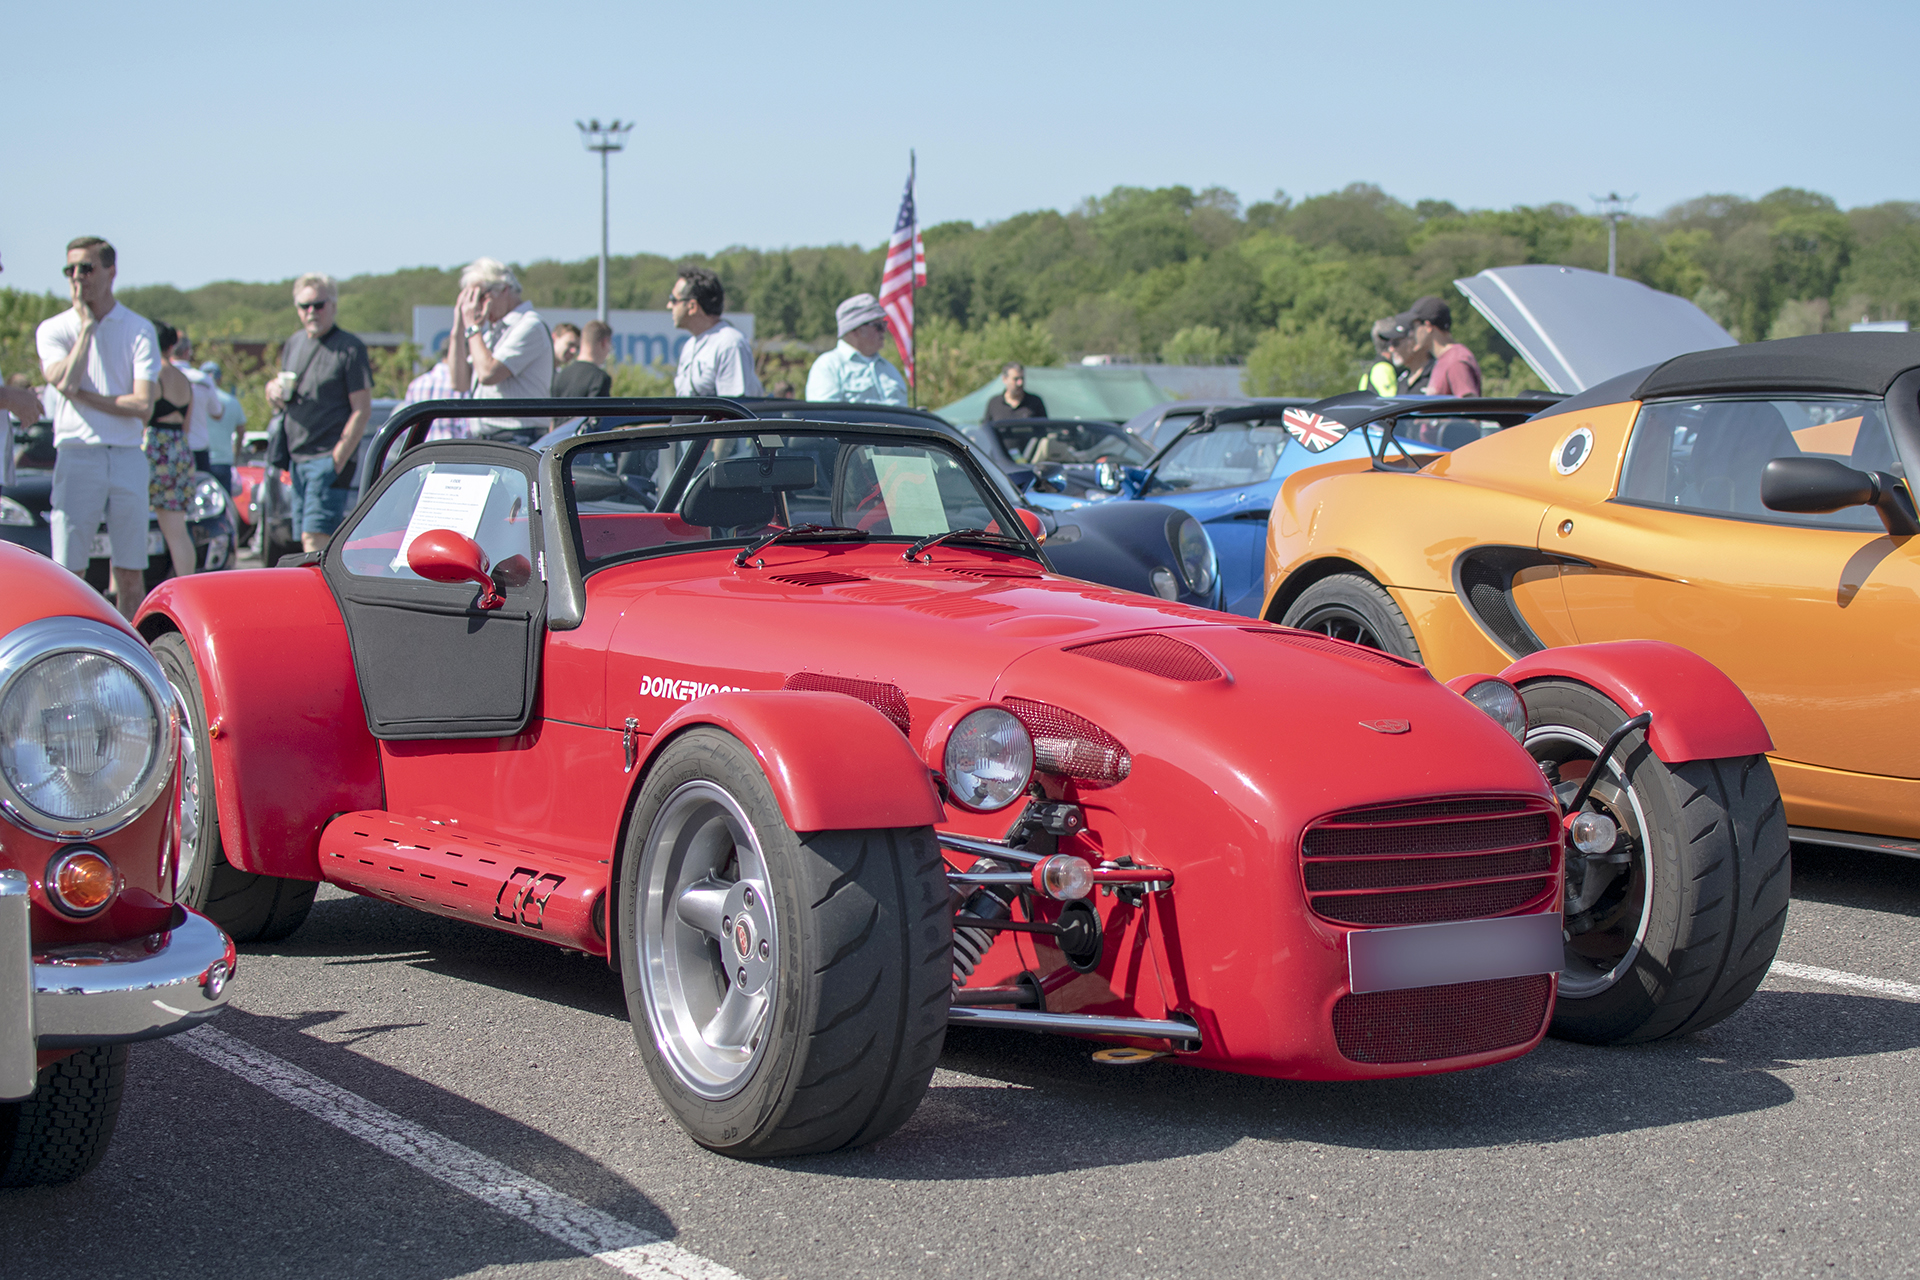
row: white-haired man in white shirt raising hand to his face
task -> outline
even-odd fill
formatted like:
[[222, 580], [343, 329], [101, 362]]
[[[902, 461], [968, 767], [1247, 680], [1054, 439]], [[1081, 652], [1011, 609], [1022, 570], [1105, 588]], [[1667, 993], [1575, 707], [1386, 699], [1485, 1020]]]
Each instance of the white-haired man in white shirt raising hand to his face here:
[[[447, 344], [453, 390], [474, 399], [545, 399], [553, 393], [553, 334], [520, 297], [520, 280], [505, 263], [474, 259], [461, 273], [453, 307], [459, 330]], [[524, 438], [547, 428], [520, 418], [478, 418], [474, 436]]]

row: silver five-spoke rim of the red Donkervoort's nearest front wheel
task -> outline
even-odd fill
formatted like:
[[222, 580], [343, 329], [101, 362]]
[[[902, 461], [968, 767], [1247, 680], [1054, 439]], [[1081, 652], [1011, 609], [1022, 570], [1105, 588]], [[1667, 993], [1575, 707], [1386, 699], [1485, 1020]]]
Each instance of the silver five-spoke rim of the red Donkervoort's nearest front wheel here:
[[739, 802], [680, 785], [647, 829], [636, 969], [666, 1067], [701, 1098], [741, 1090], [774, 1025], [780, 933], [766, 856]]

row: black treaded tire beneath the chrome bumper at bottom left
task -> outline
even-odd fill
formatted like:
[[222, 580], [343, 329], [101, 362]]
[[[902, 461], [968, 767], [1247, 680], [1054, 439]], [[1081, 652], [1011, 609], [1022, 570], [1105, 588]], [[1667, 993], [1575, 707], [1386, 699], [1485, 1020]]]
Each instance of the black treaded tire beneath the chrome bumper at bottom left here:
[[44, 1067], [33, 1098], [0, 1103], [0, 1186], [50, 1186], [92, 1171], [113, 1138], [125, 1084], [125, 1044]]

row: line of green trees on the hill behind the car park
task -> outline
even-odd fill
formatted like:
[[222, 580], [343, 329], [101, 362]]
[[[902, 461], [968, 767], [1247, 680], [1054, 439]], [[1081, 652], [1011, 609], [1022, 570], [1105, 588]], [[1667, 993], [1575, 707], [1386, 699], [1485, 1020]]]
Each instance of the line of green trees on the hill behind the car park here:
[[[1256, 393], [1346, 390], [1369, 355], [1373, 320], [1423, 294], [1453, 303], [1455, 336], [1486, 370], [1488, 390], [1521, 390], [1530, 372], [1452, 280], [1484, 267], [1561, 263], [1605, 269], [1607, 225], [1565, 203], [1457, 209], [1405, 203], [1377, 186], [1242, 205], [1223, 188], [1119, 186], [1060, 213], [925, 230], [920, 294], [924, 403], [979, 386], [1004, 359], [1048, 365], [1083, 353], [1140, 361], [1244, 363]], [[824, 347], [833, 307], [879, 286], [883, 249], [732, 248], [708, 257], [651, 253], [609, 263], [609, 305], [659, 309], [674, 269], [701, 263], [728, 288], [728, 307], [756, 317], [764, 347]], [[1753, 342], [1839, 330], [1860, 319], [1920, 320], [1920, 203], [1839, 209], [1818, 192], [1780, 188], [1759, 200], [1701, 196], [1619, 226], [1620, 274], [1692, 297], [1736, 338]], [[520, 267], [528, 297], [593, 305], [593, 259]], [[340, 322], [409, 332], [417, 303], [451, 303], [457, 269], [415, 267], [340, 286]], [[196, 290], [121, 292], [134, 309], [209, 342], [284, 338], [290, 280], [217, 282]], [[60, 301], [0, 290], [0, 368], [29, 368], [31, 324]], [[804, 365], [776, 357], [781, 376]], [[415, 353], [382, 380], [403, 380]], [[622, 382], [657, 388], [659, 370]]]

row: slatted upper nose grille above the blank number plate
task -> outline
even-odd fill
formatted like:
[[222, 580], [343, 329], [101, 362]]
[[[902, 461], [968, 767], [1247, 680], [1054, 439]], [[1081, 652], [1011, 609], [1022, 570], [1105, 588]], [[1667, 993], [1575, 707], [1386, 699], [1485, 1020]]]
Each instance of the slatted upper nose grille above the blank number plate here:
[[1434, 925], [1536, 912], [1559, 879], [1553, 806], [1469, 796], [1348, 810], [1300, 837], [1300, 877], [1321, 919]]

